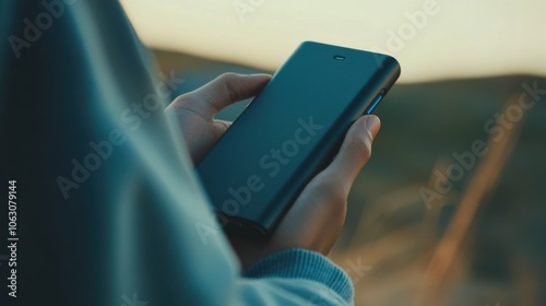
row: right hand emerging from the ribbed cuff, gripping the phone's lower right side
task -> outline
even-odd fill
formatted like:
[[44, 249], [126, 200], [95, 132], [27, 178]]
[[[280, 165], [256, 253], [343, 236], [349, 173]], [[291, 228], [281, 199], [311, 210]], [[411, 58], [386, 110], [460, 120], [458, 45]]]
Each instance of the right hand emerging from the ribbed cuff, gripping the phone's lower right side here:
[[288, 248], [330, 252], [345, 223], [348, 192], [371, 156], [371, 143], [380, 125], [372, 115], [353, 123], [334, 161], [306, 186], [270, 240], [229, 237], [244, 269]]

